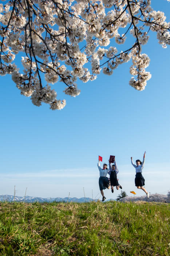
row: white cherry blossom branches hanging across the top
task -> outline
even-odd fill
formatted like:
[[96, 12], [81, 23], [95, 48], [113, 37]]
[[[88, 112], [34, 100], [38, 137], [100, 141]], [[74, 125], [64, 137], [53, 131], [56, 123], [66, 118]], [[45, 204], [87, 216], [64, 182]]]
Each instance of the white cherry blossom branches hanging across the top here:
[[[129, 84], [144, 90], [151, 74], [145, 70], [150, 59], [142, 53], [142, 45], [147, 44], [150, 31], [157, 33], [163, 48], [170, 44], [170, 22], [163, 12], [151, 8], [151, 0], [3, 2], [0, 75], [11, 74], [21, 94], [31, 96], [36, 106], [44, 102], [52, 110], [62, 109], [66, 101], [57, 99], [49, 84], [62, 82], [64, 93], [75, 97], [80, 94], [78, 78], [86, 83], [101, 71], [112, 75], [130, 59]], [[116, 48], [115, 43], [122, 45], [129, 37], [134, 38], [131, 44]], [[16, 62], [21, 62], [21, 72]]]

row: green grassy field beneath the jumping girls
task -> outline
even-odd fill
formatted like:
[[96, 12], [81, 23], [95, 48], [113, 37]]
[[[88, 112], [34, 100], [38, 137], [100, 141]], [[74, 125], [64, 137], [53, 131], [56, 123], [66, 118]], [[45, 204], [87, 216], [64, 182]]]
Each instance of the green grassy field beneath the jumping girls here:
[[169, 204], [1, 203], [0, 255], [169, 255]]

